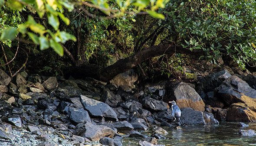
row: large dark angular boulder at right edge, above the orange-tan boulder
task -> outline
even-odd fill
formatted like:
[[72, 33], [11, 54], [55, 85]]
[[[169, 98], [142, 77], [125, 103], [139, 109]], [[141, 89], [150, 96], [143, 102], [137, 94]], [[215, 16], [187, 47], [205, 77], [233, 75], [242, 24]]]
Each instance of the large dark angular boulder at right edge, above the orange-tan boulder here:
[[220, 97], [222, 97], [227, 105], [238, 102], [246, 103], [246, 99], [244, 99], [245, 96], [256, 98], [256, 90], [237, 76], [227, 78], [217, 90]]

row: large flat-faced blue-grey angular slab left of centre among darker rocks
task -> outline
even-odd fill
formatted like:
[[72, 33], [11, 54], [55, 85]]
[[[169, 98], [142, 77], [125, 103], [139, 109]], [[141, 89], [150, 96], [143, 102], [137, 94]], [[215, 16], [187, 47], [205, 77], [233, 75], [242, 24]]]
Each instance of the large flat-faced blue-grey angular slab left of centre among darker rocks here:
[[101, 101], [96, 101], [83, 95], [81, 95], [80, 101], [85, 110], [87, 110], [91, 116], [105, 117], [106, 120], [118, 121], [115, 111], [109, 107], [108, 104]]

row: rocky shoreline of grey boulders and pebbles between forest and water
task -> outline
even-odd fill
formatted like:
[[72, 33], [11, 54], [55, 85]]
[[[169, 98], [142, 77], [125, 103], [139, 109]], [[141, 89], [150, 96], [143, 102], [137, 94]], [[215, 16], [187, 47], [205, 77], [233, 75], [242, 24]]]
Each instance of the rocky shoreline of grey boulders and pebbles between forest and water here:
[[[129, 75], [107, 84], [25, 71], [11, 79], [0, 70], [0, 145], [121, 146], [125, 135], [140, 138], [139, 146], [163, 146], [157, 144], [168, 134], [162, 127], [181, 130], [186, 125], [256, 121], [252, 74], [223, 70], [197, 84], [163, 81], [139, 89], [131, 88], [136, 75]], [[184, 125], [173, 121], [167, 104], [173, 100]], [[141, 133], [148, 130], [150, 135]]]

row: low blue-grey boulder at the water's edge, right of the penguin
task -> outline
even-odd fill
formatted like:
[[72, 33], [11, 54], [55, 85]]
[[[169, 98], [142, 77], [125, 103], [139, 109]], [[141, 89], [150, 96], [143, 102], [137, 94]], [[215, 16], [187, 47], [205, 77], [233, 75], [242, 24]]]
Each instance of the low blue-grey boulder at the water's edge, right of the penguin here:
[[213, 114], [197, 111], [190, 107], [181, 108], [181, 121], [187, 125], [219, 124]]

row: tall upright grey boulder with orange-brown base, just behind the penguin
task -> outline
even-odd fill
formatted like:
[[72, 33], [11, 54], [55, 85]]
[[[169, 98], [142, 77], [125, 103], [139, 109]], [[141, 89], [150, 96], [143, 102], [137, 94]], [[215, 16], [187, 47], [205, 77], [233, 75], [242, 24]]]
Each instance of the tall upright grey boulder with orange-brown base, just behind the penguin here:
[[191, 107], [195, 110], [204, 111], [204, 102], [200, 95], [190, 85], [180, 82], [172, 88], [169, 101], [176, 101], [180, 108]]

